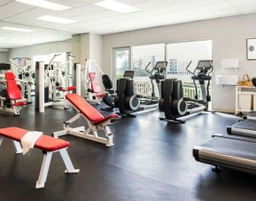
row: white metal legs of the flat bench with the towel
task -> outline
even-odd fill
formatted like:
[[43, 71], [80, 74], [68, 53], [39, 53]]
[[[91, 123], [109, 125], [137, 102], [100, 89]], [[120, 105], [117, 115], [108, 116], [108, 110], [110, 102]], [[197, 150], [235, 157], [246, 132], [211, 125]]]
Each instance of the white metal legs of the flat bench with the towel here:
[[[3, 141], [4, 141], [4, 136], [0, 136], [0, 146], [3, 143]], [[14, 143], [16, 153], [17, 154], [22, 153], [22, 148], [21, 148], [20, 143], [18, 141], [15, 141], [15, 140], [12, 140], [12, 142]], [[74, 169], [73, 163], [72, 163], [71, 159], [69, 158], [69, 155], [68, 155], [66, 149], [67, 148], [63, 148], [63, 149], [60, 149], [58, 151], [43, 151], [43, 163], [42, 163], [42, 166], [41, 166], [41, 170], [40, 170], [38, 180], [36, 181], [35, 189], [44, 188], [44, 184], [46, 182], [47, 175], [48, 175], [48, 172], [49, 172], [51, 156], [52, 156], [52, 153], [54, 153], [54, 152], [59, 152], [61, 158], [63, 159], [63, 162], [66, 166], [65, 173], [72, 174], [72, 173], [79, 173], [80, 172], [80, 169]]]

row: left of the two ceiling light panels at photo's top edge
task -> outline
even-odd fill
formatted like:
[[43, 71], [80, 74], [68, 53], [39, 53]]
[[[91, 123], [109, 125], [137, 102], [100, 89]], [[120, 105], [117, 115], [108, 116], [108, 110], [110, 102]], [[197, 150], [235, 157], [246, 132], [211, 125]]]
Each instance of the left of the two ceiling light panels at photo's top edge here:
[[35, 6], [50, 9], [53, 11], [63, 11], [63, 10], [71, 8], [71, 7], [68, 7], [63, 4], [56, 4], [56, 3], [52, 3], [52, 2], [48, 2], [48, 1], [44, 1], [44, 0], [15, 0], [15, 1], [24, 3], [24, 4], [35, 5]]

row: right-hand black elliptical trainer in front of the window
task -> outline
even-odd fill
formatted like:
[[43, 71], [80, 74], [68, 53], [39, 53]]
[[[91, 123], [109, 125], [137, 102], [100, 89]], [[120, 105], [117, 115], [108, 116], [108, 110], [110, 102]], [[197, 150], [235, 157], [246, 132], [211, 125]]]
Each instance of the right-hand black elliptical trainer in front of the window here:
[[[177, 79], [166, 79], [165, 81], [161, 81], [162, 96], [159, 102], [159, 111], [165, 112], [165, 118], [160, 118], [160, 120], [185, 123], [184, 120], [178, 119], [190, 114], [208, 111], [208, 104], [211, 101], [209, 87], [210, 81], [212, 80], [210, 73], [213, 72], [213, 60], [199, 60], [198, 66], [194, 72], [190, 72], [190, 64], [187, 66], [186, 70], [193, 74], [191, 79], [193, 80], [196, 89], [195, 99], [183, 97], [182, 81]], [[201, 88], [201, 100], [198, 99], [198, 87], [196, 81], [199, 82]]]

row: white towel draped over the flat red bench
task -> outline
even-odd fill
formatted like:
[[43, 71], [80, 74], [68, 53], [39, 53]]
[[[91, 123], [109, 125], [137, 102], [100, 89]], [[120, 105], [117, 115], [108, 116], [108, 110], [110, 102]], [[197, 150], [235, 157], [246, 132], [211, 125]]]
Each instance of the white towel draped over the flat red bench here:
[[35, 142], [38, 140], [38, 138], [41, 135], [43, 135], [42, 132], [28, 131], [27, 134], [25, 134], [21, 138], [21, 145], [22, 145], [22, 149], [23, 149], [23, 155], [27, 154], [27, 152], [35, 146]]

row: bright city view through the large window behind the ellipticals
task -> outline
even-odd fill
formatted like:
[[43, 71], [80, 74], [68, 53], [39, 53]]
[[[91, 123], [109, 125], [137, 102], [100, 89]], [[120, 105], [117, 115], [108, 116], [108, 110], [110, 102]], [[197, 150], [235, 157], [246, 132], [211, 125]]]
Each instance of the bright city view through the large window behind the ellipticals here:
[[[145, 71], [145, 67], [151, 70], [158, 61], [167, 60], [167, 77], [182, 80], [184, 96], [194, 98], [195, 87], [191, 81], [191, 74], [186, 71], [186, 67], [192, 61], [189, 69], [194, 71], [198, 65], [198, 60], [212, 59], [212, 41], [196, 41], [187, 43], [159, 43], [143, 46], [135, 46], [128, 50], [116, 50], [115, 75], [116, 78], [122, 77], [125, 70], [135, 71], [135, 82], [137, 93], [143, 96], [151, 95], [150, 74]], [[129, 54], [131, 65], [129, 65]], [[156, 94], [159, 91], [155, 84]], [[198, 88], [200, 97], [200, 88]]]

